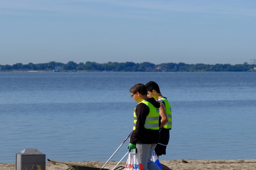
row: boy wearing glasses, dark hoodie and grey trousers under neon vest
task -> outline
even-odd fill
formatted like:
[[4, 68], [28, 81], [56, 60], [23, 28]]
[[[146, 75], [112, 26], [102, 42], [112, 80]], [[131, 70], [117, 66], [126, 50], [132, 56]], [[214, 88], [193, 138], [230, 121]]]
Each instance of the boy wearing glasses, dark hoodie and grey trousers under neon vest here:
[[134, 108], [133, 133], [129, 150], [137, 148], [144, 170], [161, 170], [151, 161], [159, 139], [159, 102], [147, 97], [147, 88], [139, 83], [130, 88], [131, 97], [138, 102]]

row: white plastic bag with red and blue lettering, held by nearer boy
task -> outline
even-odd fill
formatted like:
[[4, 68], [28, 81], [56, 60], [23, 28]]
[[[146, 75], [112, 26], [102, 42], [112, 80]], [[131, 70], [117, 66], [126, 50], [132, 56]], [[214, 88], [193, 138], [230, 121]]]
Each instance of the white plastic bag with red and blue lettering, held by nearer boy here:
[[137, 153], [129, 153], [125, 170], [144, 170]]

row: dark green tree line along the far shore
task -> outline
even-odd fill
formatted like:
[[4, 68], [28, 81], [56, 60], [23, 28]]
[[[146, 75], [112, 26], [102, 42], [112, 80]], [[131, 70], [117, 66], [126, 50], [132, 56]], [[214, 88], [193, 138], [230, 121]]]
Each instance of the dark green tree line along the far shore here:
[[96, 63], [86, 61], [85, 63], [59, 63], [51, 61], [49, 63], [33, 64], [16, 63], [14, 65], [0, 65], [0, 71], [253, 71], [256, 68], [254, 64], [185, 64], [185, 63], [161, 63], [153, 64], [149, 62], [108, 62]]

